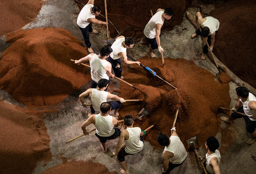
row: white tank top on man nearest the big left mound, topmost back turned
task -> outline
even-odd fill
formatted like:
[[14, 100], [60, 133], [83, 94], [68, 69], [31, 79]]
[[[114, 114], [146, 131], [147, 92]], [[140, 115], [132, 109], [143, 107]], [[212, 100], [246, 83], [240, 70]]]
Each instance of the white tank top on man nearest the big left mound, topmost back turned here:
[[100, 59], [97, 54], [93, 55], [90, 61], [91, 77], [93, 81], [98, 83], [100, 79], [109, 80], [109, 77], [107, 76], [107, 71], [105, 71], [108, 63], [109, 62], [107, 60]]

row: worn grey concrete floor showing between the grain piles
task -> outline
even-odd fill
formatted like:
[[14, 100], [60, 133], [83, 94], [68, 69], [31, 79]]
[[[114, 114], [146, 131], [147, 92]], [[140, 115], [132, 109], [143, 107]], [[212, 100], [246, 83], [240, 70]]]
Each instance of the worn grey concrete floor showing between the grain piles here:
[[[196, 1], [197, 2], [197, 1]], [[205, 13], [213, 10], [214, 6], [205, 6], [200, 2], [200, 7]], [[190, 8], [191, 13], [195, 13], [197, 8]], [[46, 0], [43, 4], [40, 13], [37, 18], [24, 27], [24, 29], [40, 28], [40, 27], [61, 27], [69, 30], [74, 36], [78, 36], [79, 40], [82, 40], [82, 34], [76, 24], [77, 15], [79, 9], [73, 0], [61, 1], [61, 0]], [[93, 28], [97, 28], [101, 31], [98, 35], [91, 35], [90, 40], [92, 42], [93, 50], [99, 54], [99, 49], [102, 45], [105, 45], [103, 40], [106, 39], [106, 31], [104, 26], [93, 25]], [[217, 68], [207, 58], [205, 61], [199, 60], [202, 54], [201, 39], [199, 37], [190, 39], [190, 35], [194, 32], [192, 24], [184, 15], [184, 20], [181, 25], [175, 26], [172, 31], [161, 32], [161, 43], [164, 48], [164, 57], [193, 59], [196, 65], [205, 68], [213, 74], [216, 74]], [[10, 44], [5, 44], [5, 36], [0, 37], [0, 51], [4, 51]], [[140, 42], [142, 43], [142, 41]], [[149, 46], [145, 46], [139, 43], [135, 44], [135, 47], [129, 49], [127, 52], [134, 58], [146, 56], [146, 50]], [[1, 53], [0, 52], [0, 53]], [[160, 54], [156, 53], [158, 57]], [[79, 57], [74, 57], [79, 59]], [[217, 79], [216, 79], [217, 80]], [[118, 88], [119, 82], [113, 80], [115, 88]], [[50, 167], [62, 164], [62, 157], [71, 161], [82, 160], [93, 162], [99, 162], [105, 165], [110, 171], [117, 171], [121, 165], [117, 161], [116, 157], [111, 158], [112, 151], [115, 150], [115, 146], [118, 139], [108, 141], [109, 151], [104, 154], [101, 151], [99, 140], [95, 137], [94, 133], [89, 136], [81, 137], [73, 142], [66, 144], [65, 142], [73, 137], [82, 134], [81, 124], [86, 120], [89, 107], [84, 108], [78, 102], [79, 93], [88, 88], [89, 84], [85, 84], [81, 87], [80, 91], [68, 96], [65, 100], [58, 103], [57, 112], [44, 113], [43, 120], [47, 127], [47, 132], [51, 138], [50, 148], [53, 158], [50, 162], [40, 162], [33, 174], [40, 174]], [[237, 100], [235, 95], [235, 88], [237, 85], [230, 82], [230, 107], [235, 105]], [[6, 91], [0, 90], [0, 99], [24, 107], [12, 98]], [[86, 99], [89, 101], [89, 99]], [[90, 125], [93, 128], [93, 125]], [[254, 174], [256, 171], [256, 162], [250, 157], [256, 156], [256, 143], [247, 145], [246, 141], [250, 135], [246, 132], [244, 120], [238, 119], [232, 126], [227, 126], [226, 123], [221, 123], [222, 129], [230, 129], [234, 131], [236, 141], [227, 148], [226, 151], [221, 151], [221, 173], [241, 173], [241, 174]], [[202, 130], [203, 131], [203, 130]], [[221, 131], [217, 134], [217, 139], [220, 142], [221, 147], [226, 147], [227, 139], [222, 139]], [[227, 137], [227, 136], [225, 136]], [[163, 149], [153, 150], [153, 147], [149, 142], [145, 142], [144, 148], [141, 153], [134, 156], [127, 156], [127, 164], [130, 173], [144, 174], [144, 173], [161, 173], [162, 170], [162, 154]], [[205, 148], [199, 149], [199, 154], [205, 153]], [[192, 156], [192, 157], [191, 157]], [[46, 164], [46, 165], [45, 165]], [[182, 164], [182, 166], [175, 168], [171, 173], [181, 174], [194, 174], [202, 173], [203, 170], [196, 160], [195, 155], [192, 152], [188, 153], [188, 158]]]

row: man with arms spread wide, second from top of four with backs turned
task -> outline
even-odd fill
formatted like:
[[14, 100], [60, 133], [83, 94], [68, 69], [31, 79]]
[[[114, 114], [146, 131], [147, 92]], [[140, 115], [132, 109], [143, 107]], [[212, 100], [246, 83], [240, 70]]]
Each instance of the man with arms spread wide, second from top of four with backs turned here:
[[[98, 82], [97, 88], [90, 88], [79, 95], [79, 99], [82, 103], [82, 106], [87, 106], [87, 103], [85, 103], [84, 97], [88, 96], [92, 100], [92, 105], [90, 106], [91, 113], [99, 114], [100, 113], [100, 106], [103, 102], [107, 102], [107, 98], [114, 98], [115, 102], [110, 102], [111, 104], [111, 110], [114, 109], [114, 117], [118, 116], [118, 109], [121, 107], [121, 103], [125, 102], [123, 98], [118, 97], [117, 95], [111, 94], [107, 91], [104, 91], [107, 86], [109, 85], [109, 81], [107, 79], [100, 79]], [[91, 115], [91, 113], [88, 113], [88, 116]]]

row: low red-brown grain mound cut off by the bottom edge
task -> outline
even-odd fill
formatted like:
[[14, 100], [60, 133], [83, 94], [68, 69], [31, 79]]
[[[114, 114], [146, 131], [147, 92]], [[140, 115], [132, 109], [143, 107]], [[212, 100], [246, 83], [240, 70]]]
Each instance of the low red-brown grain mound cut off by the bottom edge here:
[[42, 174], [117, 174], [109, 172], [107, 167], [95, 162], [82, 162], [72, 160], [71, 162], [60, 164], [49, 168]]

